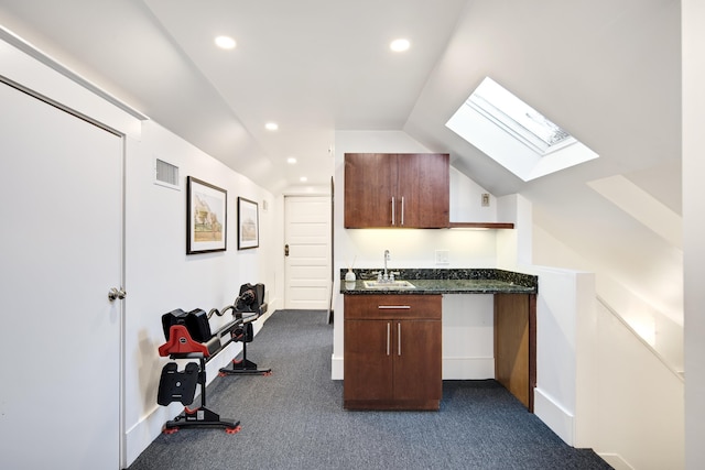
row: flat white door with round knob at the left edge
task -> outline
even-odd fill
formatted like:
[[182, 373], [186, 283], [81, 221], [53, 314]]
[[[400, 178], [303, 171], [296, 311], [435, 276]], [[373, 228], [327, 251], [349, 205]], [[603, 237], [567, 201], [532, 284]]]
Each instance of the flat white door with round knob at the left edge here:
[[0, 468], [119, 469], [122, 138], [0, 83]]

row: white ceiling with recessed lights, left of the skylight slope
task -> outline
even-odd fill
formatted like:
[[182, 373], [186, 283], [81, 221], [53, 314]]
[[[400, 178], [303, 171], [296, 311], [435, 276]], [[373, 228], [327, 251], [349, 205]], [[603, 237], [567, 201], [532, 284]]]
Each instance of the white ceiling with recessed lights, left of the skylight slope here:
[[465, 3], [3, 0], [0, 23], [276, 193], [329, 185], [336, 129], [403, 127]]

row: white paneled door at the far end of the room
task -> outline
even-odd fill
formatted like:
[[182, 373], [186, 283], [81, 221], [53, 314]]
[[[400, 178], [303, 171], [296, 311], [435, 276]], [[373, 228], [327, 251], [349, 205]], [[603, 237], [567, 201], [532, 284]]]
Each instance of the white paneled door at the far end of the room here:
[[284, 198], [285, 308], [330, 305], [330, 197]]

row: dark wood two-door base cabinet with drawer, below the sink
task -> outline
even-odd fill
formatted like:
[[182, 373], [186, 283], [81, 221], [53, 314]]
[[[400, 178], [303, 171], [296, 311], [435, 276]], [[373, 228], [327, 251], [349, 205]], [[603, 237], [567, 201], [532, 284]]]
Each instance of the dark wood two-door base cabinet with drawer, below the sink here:
[[344, 407], [438, 409], [441, 295], [346, 295]]

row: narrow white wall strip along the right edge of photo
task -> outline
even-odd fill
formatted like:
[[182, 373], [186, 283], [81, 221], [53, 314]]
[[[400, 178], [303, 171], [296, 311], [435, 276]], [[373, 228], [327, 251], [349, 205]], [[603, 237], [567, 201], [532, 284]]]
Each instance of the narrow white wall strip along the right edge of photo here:
[[685, 277], [685, 461], [705, 462], [705, 4], [681, 2], [683, 31], [683, 251]]

